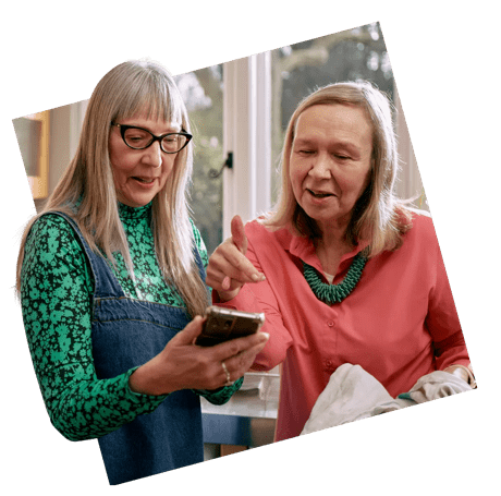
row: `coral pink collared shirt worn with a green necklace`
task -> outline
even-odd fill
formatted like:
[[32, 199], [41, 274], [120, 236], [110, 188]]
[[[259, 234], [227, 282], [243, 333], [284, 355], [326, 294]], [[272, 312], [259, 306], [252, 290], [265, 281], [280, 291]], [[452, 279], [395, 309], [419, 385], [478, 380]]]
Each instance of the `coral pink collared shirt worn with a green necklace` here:
[[[257, 221], [245, 232], [246, 255], [266, 281], [245, 285], [224, 304], [215, 295], [215, 304], [266, 314], [270, 339], [253, 368], [283, 363], [277, 440], [300, 435], [343, 363], [361, 365], [393, 397], [435, 370], [469, 364], [431, 218], [415, 216], [403, 245], [370, 258], [352, 293], [333, 305], [319, 301], [303, 276], [303, 261], [322, 273], [309, 239]], [[343, 256], [334, 283], [361, 250]]]

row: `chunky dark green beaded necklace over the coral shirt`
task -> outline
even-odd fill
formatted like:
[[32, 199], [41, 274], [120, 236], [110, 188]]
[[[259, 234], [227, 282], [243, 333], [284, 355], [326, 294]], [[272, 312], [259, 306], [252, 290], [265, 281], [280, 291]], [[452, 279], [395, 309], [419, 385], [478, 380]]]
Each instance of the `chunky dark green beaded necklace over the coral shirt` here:
[[358, 253], [353, 259], [346, 277], [339, 285], [322, 282], [318, 273], [305, 262], [303, 262], [303, 273], [315, 295], [320, 301], [332, 305], [342, 302], [353, 291], [361, 279], [366, 262], [367, 258]]

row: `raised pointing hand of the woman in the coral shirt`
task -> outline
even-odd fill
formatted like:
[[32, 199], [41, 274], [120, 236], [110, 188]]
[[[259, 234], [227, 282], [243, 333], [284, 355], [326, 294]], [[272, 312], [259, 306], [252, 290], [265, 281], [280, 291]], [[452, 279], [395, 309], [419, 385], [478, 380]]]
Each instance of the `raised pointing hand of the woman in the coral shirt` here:
[[212, 253], [207, 267], [206, 283], [218, 292], [221, 302], [235, 298], [246, 282], [265, 280], [265, 275], [245, 256], [247, 237], [240, 216], [231, 220], [231, 238]]

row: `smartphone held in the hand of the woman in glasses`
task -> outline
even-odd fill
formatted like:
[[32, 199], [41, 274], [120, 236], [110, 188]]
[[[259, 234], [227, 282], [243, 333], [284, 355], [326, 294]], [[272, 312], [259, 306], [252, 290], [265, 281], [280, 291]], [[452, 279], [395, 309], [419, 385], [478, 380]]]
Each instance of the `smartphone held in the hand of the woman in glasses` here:
[[200, 347], [211, 347], [230, 339], [242, 338], [257, 332], [265, 323], [265, 314], [241, 312], [232, 309], [209, 306], [207, 320], [195, 341]]

